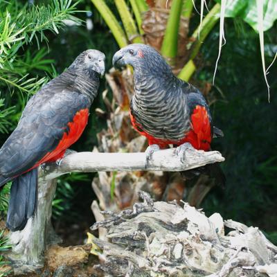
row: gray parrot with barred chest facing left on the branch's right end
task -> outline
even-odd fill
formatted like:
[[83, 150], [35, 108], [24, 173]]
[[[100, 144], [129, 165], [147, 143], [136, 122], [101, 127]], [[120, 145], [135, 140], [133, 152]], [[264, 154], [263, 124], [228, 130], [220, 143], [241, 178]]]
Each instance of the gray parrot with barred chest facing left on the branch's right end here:
[[134, 128], [148, 139], [148, 161], [154, 151], [168, 145], [178, 146], [181, 159], [185, 157], [188, 143], [197, 150], [211, 150], [213, 136], [223, 135], [213, 127], [202, 93], [177, 78], [154, 48], [129, 44], [114, 54], [113, 64], [117, 68], [127, 64], [134, 68], [130, 117]]

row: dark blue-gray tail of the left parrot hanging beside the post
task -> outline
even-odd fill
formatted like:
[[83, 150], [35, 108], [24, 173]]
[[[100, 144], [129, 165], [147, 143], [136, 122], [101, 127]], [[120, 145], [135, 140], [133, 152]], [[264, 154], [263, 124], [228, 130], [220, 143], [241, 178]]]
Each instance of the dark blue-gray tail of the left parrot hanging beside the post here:
[[12, 180], [7, 227], [11, 231], [24, 229], [37, 205], [37, 168]]

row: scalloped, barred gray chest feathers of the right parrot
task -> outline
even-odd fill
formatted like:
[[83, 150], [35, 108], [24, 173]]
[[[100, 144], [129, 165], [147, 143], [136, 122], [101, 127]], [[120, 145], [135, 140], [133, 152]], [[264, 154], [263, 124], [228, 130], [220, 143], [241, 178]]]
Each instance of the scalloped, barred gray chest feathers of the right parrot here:
[[186, 110], [186, 95], [181, 88], [148, 89], [135, 86], [131, 101], [131, 119], [134, 127], [156, 139], [180, 141], [190, 130], [189, 112]]

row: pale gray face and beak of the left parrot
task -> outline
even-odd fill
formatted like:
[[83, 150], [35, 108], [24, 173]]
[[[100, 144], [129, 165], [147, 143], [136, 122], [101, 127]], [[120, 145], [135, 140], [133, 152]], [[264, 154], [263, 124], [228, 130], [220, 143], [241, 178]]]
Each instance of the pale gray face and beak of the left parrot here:
[[84, 66], [89, 70], [96, 71], [101, 76], [105, 73], [105, 55], [94, 49], [84, 51]]

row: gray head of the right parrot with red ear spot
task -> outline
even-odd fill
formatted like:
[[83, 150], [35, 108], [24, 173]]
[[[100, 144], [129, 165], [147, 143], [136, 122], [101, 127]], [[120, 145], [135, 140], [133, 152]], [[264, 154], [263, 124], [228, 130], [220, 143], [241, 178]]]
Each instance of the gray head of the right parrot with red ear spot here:
[[113, 65], [120, 68], [127, 64], [136, 69], [171, 72], [166, 60], [151, 46], [146, 44], [129, 44], [114, 54]]

